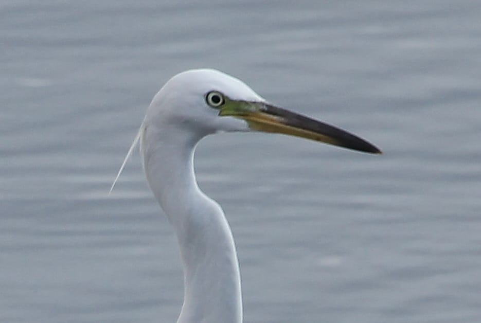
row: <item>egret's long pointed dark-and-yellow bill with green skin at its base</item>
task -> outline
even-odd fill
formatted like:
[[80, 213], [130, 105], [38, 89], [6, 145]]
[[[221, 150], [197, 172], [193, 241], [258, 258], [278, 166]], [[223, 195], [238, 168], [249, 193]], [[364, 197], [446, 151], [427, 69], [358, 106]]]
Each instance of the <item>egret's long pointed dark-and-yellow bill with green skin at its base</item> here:
[[230, 115], [247, 121], [251, 129], [281, 133], [329, 143], [366, 153], [381, 154], [376, 146], [345, 130], [309, 117], [261, 102], [226, 102], [220, 115]]

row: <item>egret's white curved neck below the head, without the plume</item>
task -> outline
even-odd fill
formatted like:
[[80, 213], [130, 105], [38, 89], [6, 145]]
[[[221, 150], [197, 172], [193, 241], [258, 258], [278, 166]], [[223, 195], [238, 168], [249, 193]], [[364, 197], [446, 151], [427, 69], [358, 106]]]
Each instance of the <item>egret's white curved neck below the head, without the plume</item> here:
[[178, 323], [241, 323], [234, 238], [220, 206], [198, 187], [193, 153], [199, 137], [147, 125], [141, 153], [147, 180], [179, 241], [184, 304]]

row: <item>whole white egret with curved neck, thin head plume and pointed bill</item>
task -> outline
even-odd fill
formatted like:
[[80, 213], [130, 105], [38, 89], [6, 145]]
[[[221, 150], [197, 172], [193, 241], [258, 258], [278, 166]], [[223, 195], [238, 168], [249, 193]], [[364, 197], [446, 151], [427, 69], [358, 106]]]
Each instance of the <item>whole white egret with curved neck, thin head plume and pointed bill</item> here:
[[184, 303], [177, 323], [242, 322], [233, 234], [219, 204], [199, 189], [193, 156], [209, 134], [247, 131], [381, 153], [358, 136], [269, 103], [218, 70], [192, 69], [172, 77], [150, 103], [112, 188], [140, 142], [148, 184], [175, 231], [184, 266]]

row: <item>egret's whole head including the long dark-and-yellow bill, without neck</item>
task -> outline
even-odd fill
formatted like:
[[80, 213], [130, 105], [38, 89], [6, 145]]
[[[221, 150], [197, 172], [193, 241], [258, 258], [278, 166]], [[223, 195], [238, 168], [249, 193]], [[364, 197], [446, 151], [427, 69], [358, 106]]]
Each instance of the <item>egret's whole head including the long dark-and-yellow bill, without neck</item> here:
[[199, 139], [222, 131], [263, 131], [381, 152], [347, 131], [274, 106], [242, 81], [213, 69], [193, 69], [172, 77], [152, 100], [146, 122], [174, 126]]

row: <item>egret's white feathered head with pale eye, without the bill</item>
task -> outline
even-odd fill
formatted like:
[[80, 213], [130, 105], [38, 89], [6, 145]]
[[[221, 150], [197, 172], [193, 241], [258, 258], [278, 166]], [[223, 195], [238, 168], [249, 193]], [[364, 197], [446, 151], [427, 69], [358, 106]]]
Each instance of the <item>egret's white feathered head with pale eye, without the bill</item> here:
[[221, 131], [248, 131], [242, 119], [220, 115], [230, 101], [265, 100], [242, 81], [218, 70], [187, 70], [172, 77], [155, 95], [146, 121], [200, 137]]

